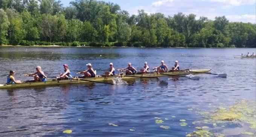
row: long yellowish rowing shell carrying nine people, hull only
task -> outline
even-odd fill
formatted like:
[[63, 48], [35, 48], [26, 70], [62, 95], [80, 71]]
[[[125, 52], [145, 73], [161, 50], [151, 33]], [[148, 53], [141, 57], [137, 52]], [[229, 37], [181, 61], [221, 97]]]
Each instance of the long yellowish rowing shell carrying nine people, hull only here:
[[[170, 74], [170, 75], [188, 75], [188, 74], [195, 74], [194, 72], [209, 72], [210, 69], [199, 69], [199, 70], [190, 70], [189, 71], [174, 71], [174, 72], [165, 72], [163, 74]], [[132, 77], [129, 77], [132, 76]], [[135, 77], [134, 77], [135, 76]], [[115, 76], [101, 76], [97, 75], [95, 78], [85, 78], [84, 80], [88, 81], [82, 81], [82, 80], [49, 80], [46, 82], [24, 82], [21, 84], [0, 84], [0, 89], [9, 89], [9, 88], [19, 88], [19, 87], [35, 87], [35, 86], [49, 86], [49, 85], [59, 85], [59, 84], [75, 84], [75, 83], [90, 83], [89, 81], [112, 81], [113, 78], [122, 78], [122, 80], [127, 79], [134, 79], [134, 78], [154, 78], [154, 77], [162, 77], [166, 75], [162, 74], [135, 74], [135, 75], [115, 75]]]

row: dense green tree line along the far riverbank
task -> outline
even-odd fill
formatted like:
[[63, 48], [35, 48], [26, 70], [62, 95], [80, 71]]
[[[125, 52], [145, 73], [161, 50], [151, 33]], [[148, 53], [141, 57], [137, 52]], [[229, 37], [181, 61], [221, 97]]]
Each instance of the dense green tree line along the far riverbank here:
[[0, 0], [0, 45], [256, 47], [256, 24], [195, 14], [130, 15], [96, 0]]

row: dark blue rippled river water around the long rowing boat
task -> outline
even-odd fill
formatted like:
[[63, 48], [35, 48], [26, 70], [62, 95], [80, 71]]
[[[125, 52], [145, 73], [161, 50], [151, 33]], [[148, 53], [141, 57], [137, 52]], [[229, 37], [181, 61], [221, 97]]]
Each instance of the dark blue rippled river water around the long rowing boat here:
[[[210, 68], [213, 73], [228, 75], [219, 78], [200, 74], [197, 75], [200, 80], [174, 81], [170, 77], [137, 79], [119, 85], [91, 83], [3, 89], [0, 136], [184, 137], [196, 130], [198, 125], [194, 121], [203, 119], [196, 110], [210, 111], [214, 106], [229, 106], [242, 99], [255, 101], [256, 59], [234, 59], [235, 55], [247, 52], [255, 53], [256, 49], [0, 47], [0, 83], [6, 82], [10, 69], [16, 71], [16, 79], [29, 80], [20, 75], [34, 72], [37, 65], [47, 75], [57, 75], [63, 71], [64, 63], [73, 72], [92, 63], [97, 74], [102, 74], [110, 62], [115, 68], [131, 62], [140, 69], [145, 61], [152, 68], [165, 60], [171, 68], [179, 60], [181, 69]], [[155, 123], [158, 118], [164, 122]], [[187, 125], [181, 126], [180, 119], [185, 119]], [[240, 123], [209, 130], [226, 137], [252, 136], [235, 132], [241, 128], [242, 132], [255, 135], [255, 129], [246, 126]], [[62, 133], [66, 129], [73, 132]]]

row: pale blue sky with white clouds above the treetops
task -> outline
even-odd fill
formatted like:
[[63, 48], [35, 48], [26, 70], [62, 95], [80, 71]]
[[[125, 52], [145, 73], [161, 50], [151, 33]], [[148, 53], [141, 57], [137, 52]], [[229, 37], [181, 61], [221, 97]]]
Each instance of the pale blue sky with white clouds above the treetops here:
[[[61, 0], [69, 6], [73, 0]], [[226, 16], [231, 22], [256, 23], [256, 0], [103, 0], [117, 3], [130, 15], [144, 9], [146, 13], [160, 12], [173, 16], [178, 12], [186, 15], [195, 14], [197, 18], [204, 16], [214, 20], [216, 16]]]

